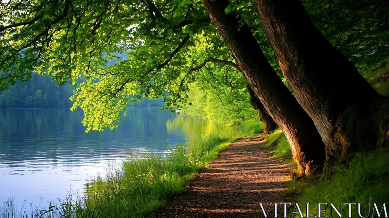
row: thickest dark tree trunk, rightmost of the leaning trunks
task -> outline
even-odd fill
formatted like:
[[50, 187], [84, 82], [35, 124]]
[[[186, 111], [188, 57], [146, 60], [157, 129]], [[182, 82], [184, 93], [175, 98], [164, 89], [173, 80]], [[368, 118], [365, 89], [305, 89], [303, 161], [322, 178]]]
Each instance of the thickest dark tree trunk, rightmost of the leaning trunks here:
[[326, 144], [328, 163], [388, 144], [388, 100], [313, 24], [299, 0], [255, 0], [283, 75]]

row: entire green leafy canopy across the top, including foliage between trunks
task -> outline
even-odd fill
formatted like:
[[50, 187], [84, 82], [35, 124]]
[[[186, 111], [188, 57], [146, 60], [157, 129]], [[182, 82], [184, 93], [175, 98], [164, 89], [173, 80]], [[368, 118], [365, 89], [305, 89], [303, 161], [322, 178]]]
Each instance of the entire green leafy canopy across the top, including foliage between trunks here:
[[[386, 1], [302, 2], [323, 35], [354, 63], [374, 67], [388, 56]], [[230, 12], [249, 25], [282, 76], [252, 2], [231, 0]], [[218, 111], [232, 107], [230, 114], [219, 113], [232, 123], [251, 113], [243, 107], [245, 79], [231, 67], [233, 58], [199, 0], [1, 1], [0, 39], [0, 91], [30, 80], [33, 72], [77, 85], [72, 109], [83, 109], [87, 131], [117, 127], [134, 95], [162, 96], [171, 110], [193, 102], [209, 102]], [[217, 117], [215, 111], [201, 113]]]

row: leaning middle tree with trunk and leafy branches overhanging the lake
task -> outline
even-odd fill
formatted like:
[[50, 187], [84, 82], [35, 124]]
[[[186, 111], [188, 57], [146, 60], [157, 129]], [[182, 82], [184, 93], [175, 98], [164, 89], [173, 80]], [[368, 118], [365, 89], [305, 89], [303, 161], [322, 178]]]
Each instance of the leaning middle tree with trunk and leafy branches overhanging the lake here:
[[[83, 109], [87, 131], [103, 130], [117, 127], [120, 111], [135, 101], [134, 95], [162, 96], [165, 108], [179, 109], [187, 103], [187, 92], [196, 78], [195, 66], [209, 58], [228, 63], [236, 59], [252, 90], [285, 132], [300, 174], [309, 173], [312, 162], [324, 162], [324, 145], [312, 120], [274, 72], [248, 26], [243, 25], [238, 33], [236, 27], [241, 22], [236, 15], [228, 16], [231, 22], [225, 27], [246, 46], [246, 56], [235, 54], [237, 50], [231, 49], [228, 40], [233, 55], [219, 50], [217, 45], [223, 40], [200, 1], [127, 3], [2, 3], [0, 88], [25, 82], [32, 78], [32, 72], [50, 74], [59, 85], [78, 83], [71, 98], [72, 109]], [[216, 8], [218, 14], [226, 16], [228, 3]], [[197, 53], [197, 45], [206, 45], [206, 53]], [[128, 55], [125, 60], [119, 55], [123, 53]]]

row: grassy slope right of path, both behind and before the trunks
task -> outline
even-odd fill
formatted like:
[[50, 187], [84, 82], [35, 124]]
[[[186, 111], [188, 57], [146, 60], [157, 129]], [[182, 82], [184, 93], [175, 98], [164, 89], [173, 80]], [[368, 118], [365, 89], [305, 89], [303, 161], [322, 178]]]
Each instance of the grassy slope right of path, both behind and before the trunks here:
[[[293, 162], [289, 144], [280, 129], [266, 136], [273, 158], [286, 157], [286, 162]], [[306, 215], [305, 203], [310, 203], [310, 216], [318, 215], [317, 203], [333, 203], [340, 211], [340, 203], [361, 203], [361, 215], [372, 216], [373, 205], [376, 203], [381, 210], [383, 203], [389, 197], [389, 151], [379, 149], [369, 153], [360, 153], [345, 165], [332, 169], [325, 175], [292, 180], [289, 182], [287, 202], [299, 203], [303, 215]], [[369, 204], [371, 203], [370, 209]], [[357, 206], [353, 207], [352, 217], [359, 217]], [[330, 217], [329, 206], [321, 216]], [[343, 207], [342, 217], [349, 217], [349, 208]], [[289, 217], [293, 208], [289, 208]], [[338, 217], [333, 211], [333, 217]], [[295, 217], [299, 217], [296, 214]], [[375, 214], [375, 217], [377, 215]], [[383, 216], [381, 216], [383, 217]]]

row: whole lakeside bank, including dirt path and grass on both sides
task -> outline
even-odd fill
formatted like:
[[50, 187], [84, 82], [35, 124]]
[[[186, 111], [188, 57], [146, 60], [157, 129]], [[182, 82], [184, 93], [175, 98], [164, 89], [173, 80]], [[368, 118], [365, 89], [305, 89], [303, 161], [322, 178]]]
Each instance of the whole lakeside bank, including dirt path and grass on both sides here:
[[[268, 202], [361, 202], [367, 214], [366, 202], [387, 200], [387, 150], [357, 154], [325, 176], [292, 180], [294, 164], [280, 129], [263, 141], [242, 137], [261, 128], [248, 121], [240, 131], [212, 132], [195, 145], [110, 166], [108, 176], [88, 184], [85, 198], [68, 196], [28, 217], [259, 217], [260, 202], [265, 208]], [[0, 218], [27, 217], [13, 212], [0, 210]]]

